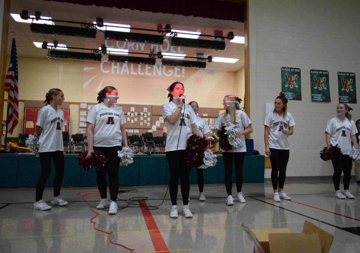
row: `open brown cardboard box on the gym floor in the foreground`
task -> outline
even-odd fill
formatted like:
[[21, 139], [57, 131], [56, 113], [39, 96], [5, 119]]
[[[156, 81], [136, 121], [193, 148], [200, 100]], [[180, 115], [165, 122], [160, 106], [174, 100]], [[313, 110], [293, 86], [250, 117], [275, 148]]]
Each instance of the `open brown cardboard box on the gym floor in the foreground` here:
[[334, 236], [304, 222], [301, 233], [291, 233], [288, 228], [250, 229], [241, 223], [256, 253], [328, 253]]

